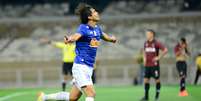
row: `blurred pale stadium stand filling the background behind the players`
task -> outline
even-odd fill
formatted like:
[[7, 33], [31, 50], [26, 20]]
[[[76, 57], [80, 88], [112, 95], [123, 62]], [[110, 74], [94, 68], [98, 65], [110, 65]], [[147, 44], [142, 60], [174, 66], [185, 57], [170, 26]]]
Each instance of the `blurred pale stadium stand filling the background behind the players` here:
[[[148, 1], [114, 0], [102, 12], [101, 27], [105, 32], [115, 34], [119, 41], [116, 45], [102, 42], [99, 48], [101, 68], [97, 73], [98, 84], [119, 84], [122, 80], [122, 84], [132, 83], [137, 74], [134, 58], [143, 47], [147, 28], [154, 29], [159, 40], [169, 49], [162, 62], [161, 76], [165, 84], [176, 83], [172, 48], [180, 37], [186, 37], [190, 44], [192, 57], [189, 66], [193, 66], [193, 58], [201, 50], [200, 12], [183, 12], [185, 0]], [[60, 50], [41, 44], [39, 40], [50, 37], [62, 41], [65, 34], [76, 31], [78, 19], [64, 16], [69, 6], [68, 3], [45, 3], [0, 7], [0, 73], [5, 75], [0, 77], [3, 81], [1, 87], [19, 87], [27, 82], [30, 86], [29, 81], [37, 83], [35, 86], [55, 84], [60, 78], [60, 69], [55, 68], [60, 64]], [[192, 71], [193, 68], [189, 69]], [[192, 80], [192, 74], [189, 77]]]

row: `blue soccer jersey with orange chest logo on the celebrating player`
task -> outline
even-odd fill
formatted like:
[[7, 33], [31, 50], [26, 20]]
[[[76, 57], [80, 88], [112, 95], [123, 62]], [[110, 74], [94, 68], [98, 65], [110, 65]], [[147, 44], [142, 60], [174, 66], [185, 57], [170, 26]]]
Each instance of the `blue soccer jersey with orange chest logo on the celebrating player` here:
[[93, 67], [97, 48], [100, 45], [102, 30], [99, 26], [91, 27], [88, 24], [80, 24], [77, 33], [82, 36], [76, 41], [76, 58], [74, 62]]

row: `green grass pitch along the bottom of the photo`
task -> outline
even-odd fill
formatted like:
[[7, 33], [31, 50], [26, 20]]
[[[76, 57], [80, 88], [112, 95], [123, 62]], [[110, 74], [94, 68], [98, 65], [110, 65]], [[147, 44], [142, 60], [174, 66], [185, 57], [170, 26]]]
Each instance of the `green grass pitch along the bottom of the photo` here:
[[[67, 89], [69, 91], [70, 88]], [[179, 97], [178, 86], [162, 86], [160, 101], [201, 101], [201, 86], [188, 86], [189, 96]], [[58, 88], [0, 89], [0, 101], [36, 101], [37, 92], [55, 93]], [[96, 87], [95, 101], [139, 101], [142, 86]], [[155, 87], [151, 86], [150, 101], [154, 101]], [[79, 101], [84, 101], [84, 96]]]

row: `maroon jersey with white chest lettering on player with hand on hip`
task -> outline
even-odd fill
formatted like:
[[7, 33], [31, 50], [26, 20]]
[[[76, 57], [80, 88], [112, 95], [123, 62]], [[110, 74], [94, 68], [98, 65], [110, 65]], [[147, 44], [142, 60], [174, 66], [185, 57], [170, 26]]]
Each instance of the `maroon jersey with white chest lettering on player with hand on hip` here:
[[159, 55], [159, 50], [164, 50], [165, 46], [162, 45], [159, 41], [153, 40], [152, 42], [146, 41], [144, 44], [145, 52], [145, 66], [153, 67], [159, 66], [159, 61], [154, 61], [154, 58]]

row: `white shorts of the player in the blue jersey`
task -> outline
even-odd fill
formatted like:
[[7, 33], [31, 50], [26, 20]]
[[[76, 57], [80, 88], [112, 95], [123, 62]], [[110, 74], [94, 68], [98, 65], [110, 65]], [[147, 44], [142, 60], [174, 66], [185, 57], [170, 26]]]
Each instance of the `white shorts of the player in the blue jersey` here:
[[73, 64], [73, 84], [81, 90], [83, 86], [93, 85], [91, 76], [93, 68], [84, 64]]

